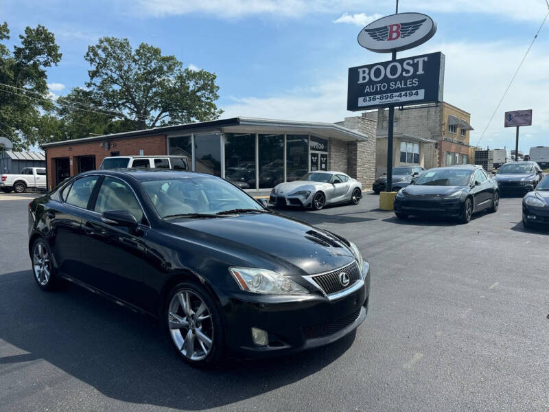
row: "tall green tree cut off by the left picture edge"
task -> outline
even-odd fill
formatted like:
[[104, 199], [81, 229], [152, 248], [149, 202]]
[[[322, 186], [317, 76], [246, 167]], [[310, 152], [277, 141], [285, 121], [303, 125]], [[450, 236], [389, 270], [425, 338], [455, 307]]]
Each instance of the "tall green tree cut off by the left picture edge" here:
[[[27, 27], [19, 38], [21, 46], [10, 52], [3, 43], [10, 39], [8, 23], [0, 25], [0, 135], [8, 137], [15, 149], [52, 138], [48, 133], [54, 124], [45, 115], [54, 108], [46, 68], [57, 65], [62, 56], [54, 34], [43, 25]], [[54, 135], [58, 134], [56, 130]]]

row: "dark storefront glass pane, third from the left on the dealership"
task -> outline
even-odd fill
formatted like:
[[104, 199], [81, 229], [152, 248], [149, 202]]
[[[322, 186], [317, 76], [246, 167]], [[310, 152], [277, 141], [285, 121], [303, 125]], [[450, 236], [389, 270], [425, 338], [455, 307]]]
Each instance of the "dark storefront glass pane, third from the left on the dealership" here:
[[225, 133], [225, 179], [255, 189], [255, 134]]

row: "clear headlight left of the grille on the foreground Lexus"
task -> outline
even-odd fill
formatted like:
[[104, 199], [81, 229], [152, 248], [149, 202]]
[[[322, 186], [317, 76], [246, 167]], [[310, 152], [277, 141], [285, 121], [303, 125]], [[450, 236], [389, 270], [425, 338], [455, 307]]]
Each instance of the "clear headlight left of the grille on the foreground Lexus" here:
[[287, 276], [258, 268], [229, 268], [242, 290], [271, 295], [307, 295], [309, 291]]

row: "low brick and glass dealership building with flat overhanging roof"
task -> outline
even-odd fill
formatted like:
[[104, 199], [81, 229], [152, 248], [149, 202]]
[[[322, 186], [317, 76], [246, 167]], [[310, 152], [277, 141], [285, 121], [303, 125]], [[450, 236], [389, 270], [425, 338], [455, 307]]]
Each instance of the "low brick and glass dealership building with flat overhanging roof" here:
[[99, 168], [109, 156], [185, 155], [196, 172], [238, 180], [246, 190], [261, 191], [314, 170], [338, 170], [367, 187], [375, 174], [375, 142], [371, 119], [333, 124], [233, 117], [56, 141], [42, 147], [48, 187]]

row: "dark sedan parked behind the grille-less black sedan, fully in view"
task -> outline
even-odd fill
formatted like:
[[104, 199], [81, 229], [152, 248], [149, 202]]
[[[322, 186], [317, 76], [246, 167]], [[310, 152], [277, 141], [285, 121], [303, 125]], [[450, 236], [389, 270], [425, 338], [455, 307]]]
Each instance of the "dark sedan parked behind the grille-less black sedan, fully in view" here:
[[493, 179], [498, 182], [501, 194], [524, 196], [535, 189], [543, 176], [535, 161], [515, 161], [502, 165]]

